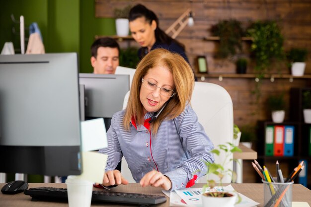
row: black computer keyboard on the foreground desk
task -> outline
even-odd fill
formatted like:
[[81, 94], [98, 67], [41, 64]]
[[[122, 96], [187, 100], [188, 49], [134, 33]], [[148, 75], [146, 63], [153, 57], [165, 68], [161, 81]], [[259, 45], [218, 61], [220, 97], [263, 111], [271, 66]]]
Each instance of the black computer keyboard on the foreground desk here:
[[[67, 201], [66, 188], [52, 188], [52, 187], [39, 187], [30, 188], [24, 191], [25, 195], [31, 196], [32, 201], [38, 200], [59, 200]], [[134, 205], [153, 205], [166, 202], [165, 196], [137, 194], [137, 193], [120, 193], [113, 191], [93, 191], [92, 202], [105, 202], [105, 203], [123, 203]]]

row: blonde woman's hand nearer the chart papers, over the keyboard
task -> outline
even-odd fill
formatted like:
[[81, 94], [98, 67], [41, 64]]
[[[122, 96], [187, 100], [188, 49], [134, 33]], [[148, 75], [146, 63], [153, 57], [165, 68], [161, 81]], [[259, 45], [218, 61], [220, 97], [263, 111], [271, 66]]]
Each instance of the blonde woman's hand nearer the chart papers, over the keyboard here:
[[142, 187], [146, 187], [146, 186], [161, 187], [162, 189], [166, 191], [172, 188], [172, 182], [170, 181], [170, 179], [156, 170], [153, 170], [147, 173], [141, 179], [139, 184]]

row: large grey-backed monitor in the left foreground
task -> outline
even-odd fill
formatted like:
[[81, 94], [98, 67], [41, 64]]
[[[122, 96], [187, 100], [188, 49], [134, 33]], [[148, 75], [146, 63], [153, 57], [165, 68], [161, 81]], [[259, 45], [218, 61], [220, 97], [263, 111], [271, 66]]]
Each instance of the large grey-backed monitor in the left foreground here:
[[0, 55], [0, 172], [78, 175], [76, 53]]

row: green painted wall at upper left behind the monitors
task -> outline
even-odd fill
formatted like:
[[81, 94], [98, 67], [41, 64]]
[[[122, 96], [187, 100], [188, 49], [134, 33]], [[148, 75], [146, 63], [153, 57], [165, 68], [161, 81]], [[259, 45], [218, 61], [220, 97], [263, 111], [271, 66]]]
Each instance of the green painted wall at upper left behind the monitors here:
[[90, 46], [95, 35], [115, 34], [113, 18], [95, 18], [94, 0], [5, 0], [0, 6], [0, 49], [8, 41], [20, 48], [20, 36], [12, 33], [19, 24], [12, 22], [11, 13], [17, 20], [23, 15], [25, 27], [38, 23], [46, 53], [77, 52], [80, 72], [93, 71]]

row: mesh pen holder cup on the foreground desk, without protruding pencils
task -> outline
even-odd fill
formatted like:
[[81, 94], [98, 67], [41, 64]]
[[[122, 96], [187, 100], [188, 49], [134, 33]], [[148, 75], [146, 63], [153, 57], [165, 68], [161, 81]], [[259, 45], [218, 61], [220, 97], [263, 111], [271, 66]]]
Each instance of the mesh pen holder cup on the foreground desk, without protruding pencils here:
[[293, 183], [270, 183], [262, 180], [264, 207], [292, 207]]

